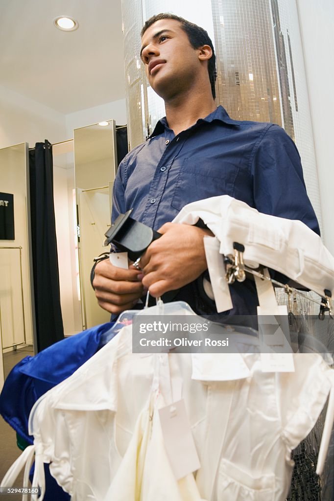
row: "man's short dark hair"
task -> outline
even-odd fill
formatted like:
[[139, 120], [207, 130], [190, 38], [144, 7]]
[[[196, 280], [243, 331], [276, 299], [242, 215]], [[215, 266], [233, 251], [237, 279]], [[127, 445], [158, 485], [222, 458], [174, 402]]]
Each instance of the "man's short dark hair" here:
[[209, 73], [209, 79], [210, 79], [210, 84], [211, 84], [211, 92], [212, 96], [214, 99], [216, 99], [216, 89], [215, 89], [215, 82], [217, 78], [217, 72], [216, 72], [216, 55], [215, 55], [215, 49], [213, 47], [213, 44], [211, 42], [211, 39], [208, 35], [208, 33], [201, 28], [200, 26], [195, 25], [194, 23], [191, 23], [190, 21], [187, 21], [184, 18], [180, 18], [179, 16], [176, 16], [175, 14], [156, 14], [155, 16], [152, 16], [149, 18], [144, 26], [142, 27], [140, 37], [143, 36], [145, 31], [156, 21], [159, 21], [160, 19], [174, 19], [175, 21], [179, 21], [181, 24], [181, 28], [183, 31], [187, 34], [190, 45], [194, 49], [198, 49], [199, 47], [202, 47], [203, 45], [209, 45], [212, 49], [212, 57], [208, 61], [208, 73]]

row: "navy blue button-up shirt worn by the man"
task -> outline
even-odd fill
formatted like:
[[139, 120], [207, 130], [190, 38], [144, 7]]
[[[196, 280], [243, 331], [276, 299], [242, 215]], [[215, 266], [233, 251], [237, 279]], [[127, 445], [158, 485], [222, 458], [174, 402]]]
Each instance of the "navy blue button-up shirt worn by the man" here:
[[[165, 118], [158, 121], [148, 140], [119, 166], [112, 221], [132, 208], [131, 217], [157, 230], [187, 203], [218, 195], [265, 214], [299, 219], [319, 234], [292, 139], [278, 125], [232, 120], [222, 106], [178, 135]], [[256, 314], [249, 282], [233, 287], [239, 292], [232, 291], [235, 314]], [[189, 298], [196, 291], [187, 291], [183, 299], [200, 313]]]

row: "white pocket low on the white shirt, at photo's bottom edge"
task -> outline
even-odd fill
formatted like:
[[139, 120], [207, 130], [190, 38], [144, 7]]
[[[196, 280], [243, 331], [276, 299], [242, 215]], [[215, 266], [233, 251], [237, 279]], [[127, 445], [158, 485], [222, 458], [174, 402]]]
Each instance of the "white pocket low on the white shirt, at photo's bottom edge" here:
[[274, 501], [275, 475], [254, 477], [222, 459], [217, 478], [217, 499], [228, 501]]

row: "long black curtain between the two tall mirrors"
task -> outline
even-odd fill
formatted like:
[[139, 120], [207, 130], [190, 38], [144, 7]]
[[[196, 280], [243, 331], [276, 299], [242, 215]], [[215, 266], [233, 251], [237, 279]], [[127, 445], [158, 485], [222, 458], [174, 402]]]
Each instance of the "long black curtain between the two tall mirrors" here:
[[37, 351], [64, 338], [60, 306], [52, 145], [45, 140], [29, 152], [31, 233]]

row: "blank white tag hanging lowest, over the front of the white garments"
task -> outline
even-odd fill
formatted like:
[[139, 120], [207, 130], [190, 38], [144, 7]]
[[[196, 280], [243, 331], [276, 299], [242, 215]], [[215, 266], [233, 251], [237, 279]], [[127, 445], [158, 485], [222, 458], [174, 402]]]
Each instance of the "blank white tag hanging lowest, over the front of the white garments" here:
[[184, 400], [159, 409], [159, 418], [164, 447], [179, 480], [201, 467]]

